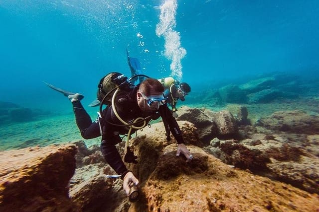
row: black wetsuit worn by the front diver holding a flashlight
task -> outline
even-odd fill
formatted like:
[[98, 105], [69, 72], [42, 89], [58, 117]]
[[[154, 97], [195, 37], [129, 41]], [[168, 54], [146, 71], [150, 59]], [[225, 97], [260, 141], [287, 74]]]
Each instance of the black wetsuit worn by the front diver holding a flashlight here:
[[[176, 139], [177, 143], [184, 143], [183, 137], [181, 135], [179, 126], [172, 116], [167, 105], [160, 106], [158, 111], [143, 113], [137, 103], [137, 93], [138, 87], [135, 87], [130, 92], [119, 92], [117, 94], [116, 110], [119, 116], [126, 121], [127, 123], [132, 123], [134, 119], [138, 117], [146, 118], [151, 116], [152, 119], [162, 118], [166, 133], [169, 131]], [[123, 125], [120, 120], [115, 116], [112, 106], [103, 111], [103, 120], [96, 120], [92, 123], [90, 116], [84, 110], [80, 101], [73, 102], [73, 110], [76, 117], [76, 123], [81, 131], [81, 135], [84, 139], [92, 139], [100, 136], [100, 127], [99, 121], [101, 123], [103, 133], [101, 141], [101, 151], [104, 155], [105, 160], [110, 164], [110, 166], [118, 174], [123, 174], [127, 171], [127, 168], [124, 162], [121, 159], [121, 156], [116, 148], [116, 144], [121, 142], [120, 135], [127, 134], [129, 127], [127, 126], [115, 126], [113, 124]], [[150, 120], [148, 120], [150, 121]], [[132, 133], [134, 133], [133, 131]], [[169, 138], [169, 135], [168, 137]]]

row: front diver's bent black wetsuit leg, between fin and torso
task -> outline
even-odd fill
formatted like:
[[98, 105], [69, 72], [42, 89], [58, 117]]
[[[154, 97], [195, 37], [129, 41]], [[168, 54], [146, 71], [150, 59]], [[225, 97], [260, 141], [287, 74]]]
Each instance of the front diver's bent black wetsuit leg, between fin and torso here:
[[92, 123], [90, 115], [85, 111], [80, 101], [72, 102], [76, 125], [78, 126], [83, 139], [93, 139], [100, 135], [99, 123], [96, 120]]

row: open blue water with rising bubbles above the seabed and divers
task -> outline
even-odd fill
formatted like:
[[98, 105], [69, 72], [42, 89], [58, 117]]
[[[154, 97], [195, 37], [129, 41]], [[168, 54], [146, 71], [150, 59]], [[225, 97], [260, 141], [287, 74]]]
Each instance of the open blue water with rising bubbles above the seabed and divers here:
[[87, 105], [103, 75], [130, 75], [126, 48], [145, 74], [193, 90], [272, 71], [316, 77], [318, 14], [318, 0], [0, 0], [0, 100], [71, 112], [42, 81]]

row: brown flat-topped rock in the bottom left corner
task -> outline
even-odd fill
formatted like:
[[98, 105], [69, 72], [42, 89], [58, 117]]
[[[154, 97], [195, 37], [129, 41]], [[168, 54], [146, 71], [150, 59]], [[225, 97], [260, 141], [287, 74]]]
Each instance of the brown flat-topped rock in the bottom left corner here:
[[0, 152], [1, 212], [78, 212], [68, 197], [75, 145]]

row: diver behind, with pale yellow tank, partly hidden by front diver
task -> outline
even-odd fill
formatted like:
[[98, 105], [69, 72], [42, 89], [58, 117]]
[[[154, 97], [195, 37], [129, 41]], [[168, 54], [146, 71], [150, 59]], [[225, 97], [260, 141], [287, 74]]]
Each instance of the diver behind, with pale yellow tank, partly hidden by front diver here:
[[170, 105], [174, 118], [177, 118], [177, 100], [185, 101], [185, 96], [190, 92], [190, 86], [186, 82], [178, 82], [173, 77], [161, 78], [159, 81], [164, 87], [164, 96], [167, 99], [167, 104]]

